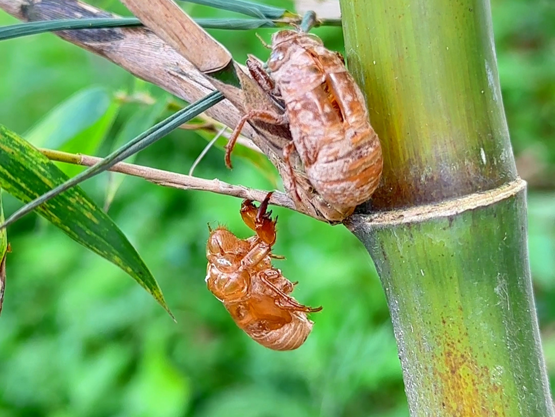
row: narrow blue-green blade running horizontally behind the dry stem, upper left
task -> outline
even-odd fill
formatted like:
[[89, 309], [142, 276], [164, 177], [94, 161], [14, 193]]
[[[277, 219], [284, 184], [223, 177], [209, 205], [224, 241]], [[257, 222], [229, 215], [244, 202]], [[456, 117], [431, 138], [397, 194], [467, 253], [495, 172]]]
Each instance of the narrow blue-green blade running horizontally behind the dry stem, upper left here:
[[[281, 17], [281, 16], [279, 16]], [[264, 16], [260, 19], [195, 19], [206, 29], [248, 30], [276, 27]], [[137, 18], [98, 18], [98, 19], [57, 19], [52, 21], [25, 22], [0, 28], [0, 41], [35, 35], [44, 32], [58, 32], [79, 29], [105, 29], [114, 27], [137, 27], [143, 24]]]

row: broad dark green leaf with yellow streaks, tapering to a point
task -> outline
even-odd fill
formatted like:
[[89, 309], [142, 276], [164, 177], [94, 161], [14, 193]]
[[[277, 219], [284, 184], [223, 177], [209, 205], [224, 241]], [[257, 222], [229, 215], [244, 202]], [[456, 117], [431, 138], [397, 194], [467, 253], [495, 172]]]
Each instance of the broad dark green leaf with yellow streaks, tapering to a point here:
[[[68, 180], [56, 165], [0, 125], [0, 185], [29, 202]], [[152, 273], [122, 231], [79, 187], [37, 207], [37, 212], [85, 248], [122, 268], [171, 314]]]

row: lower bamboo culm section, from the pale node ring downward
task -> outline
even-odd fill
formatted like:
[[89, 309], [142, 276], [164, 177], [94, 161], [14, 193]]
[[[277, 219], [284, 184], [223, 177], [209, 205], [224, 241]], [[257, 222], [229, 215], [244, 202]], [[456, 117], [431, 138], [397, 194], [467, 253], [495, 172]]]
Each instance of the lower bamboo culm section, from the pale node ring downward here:
[[553, 417], [528, 268], [526, 183], [471, 197], [466, 203], [483, 204], [452, 202], [406, 221], [359, 215], [348, 225], [382, 280], [411, 416]]

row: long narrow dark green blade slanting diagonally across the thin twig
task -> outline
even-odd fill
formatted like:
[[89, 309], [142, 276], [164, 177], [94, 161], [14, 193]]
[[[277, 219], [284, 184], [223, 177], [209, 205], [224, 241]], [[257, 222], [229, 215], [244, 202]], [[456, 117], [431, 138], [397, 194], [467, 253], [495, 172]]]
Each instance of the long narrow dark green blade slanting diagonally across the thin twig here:
[[179, 110], [179, 112], [172, 114], [170, 117], [166, 118], [157, 125], [154, 125], [146, 132], [140, 134], [138, 137], [130, 140], [122, 148], [116, 150], [115, 152], [112, 152], [97, 164], [84, 170], [82, 173], [75, 175], [75, 177], [73, 177], [72, 179], [67, 180], [63, 184], [58, 185], [58, 187], [49, 190], [48, 192], [40, 195], [36, 199], [24, 205], [21, 209], [17, 210], [17, 212], [13, 213], [3, 224], [0, 224], [0, 229], [7, 227], [27, 213], [31, 213], [39, 205], [47, 202], [53, 197], [56, 197], [56, 195], [59, 195], [60, 193], [63, 193], [65, 190], [74, 187], [80, 182], [83, 182], [85, 179], [94, 177], [94, 175], [97, 175], [100, 172], [113, 167], [113, 165], [124, 160], [125, 158], [128, 158], [131, 155], [139, 152], [140, 150], [148, 147], [149, 145], [152, 145], [154, 142], [162, 139], [172, 130], [177, 129], [181, 124], [188, 122], [190, 119], [196, 117], [197, 115], [204, 112], [206, 109], [209, 109], [214, 104], [219, 103], [223, 99], [223, 94], [221, 94], [219, 91], [213, 91], [201, 98], [199, 101], [196, 101], [195, 103], [188, 105], [184, 109]]

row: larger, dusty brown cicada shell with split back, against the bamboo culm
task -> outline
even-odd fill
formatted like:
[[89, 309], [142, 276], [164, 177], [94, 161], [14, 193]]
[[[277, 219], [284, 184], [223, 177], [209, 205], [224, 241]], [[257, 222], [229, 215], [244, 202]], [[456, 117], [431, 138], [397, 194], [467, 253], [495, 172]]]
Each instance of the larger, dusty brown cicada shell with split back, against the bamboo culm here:
[[[284, 148], [285, 162], [297, 152], [316, 192], [347, 217], [374, 193], [383, 166], [380, 140], [370, 125], [362, 91], [341, 55], [326, 49], [314, 35], [276, 32], [271, 49], [267, 75], [254, 58], [247, 65], [255, 81], [281, 100], [286, 111], [249, 112], [234, 133], [239, 134], [246, 119], [289, 123], [292, 143]], [[228, 165], [233, 142], [227, 148]], [[298, 198], [295, 184], [287, 191]]]

